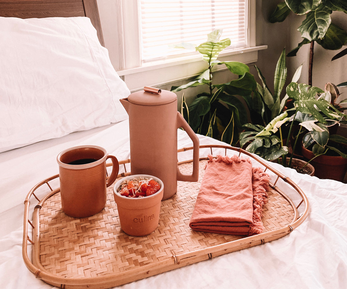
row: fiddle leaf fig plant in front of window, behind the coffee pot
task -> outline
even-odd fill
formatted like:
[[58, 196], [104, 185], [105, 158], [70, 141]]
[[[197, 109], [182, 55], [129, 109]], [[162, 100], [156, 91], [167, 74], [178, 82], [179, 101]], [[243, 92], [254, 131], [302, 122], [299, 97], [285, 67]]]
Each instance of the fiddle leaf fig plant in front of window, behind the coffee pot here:
[[[244, 63], [217, 59], [219, 53], [230, 45], [230, 39], [220, 40], [221, 34], [222, 30], [216, 29], [208, 34], [206, 42], [195, 47], [208, 68], [193, 81], [172, 86], [171, 91], [178, 92], [198, 85], [208, 87], [207, 92], [198, 94], [189, 105], [183, 96], [181, 113], [195, 133], [220, 138], [223, 142], [235, 145], [239, 140], [239, 129], [247, 122], [246, 108], [235, 95], [251, 94], [256, 88], [256, 82]], [[180, 48], [191, 46], [179, 45]], [[213, 84], [213, 68], [219, 65], [225, 65], [238, 78], [226, 84]]]

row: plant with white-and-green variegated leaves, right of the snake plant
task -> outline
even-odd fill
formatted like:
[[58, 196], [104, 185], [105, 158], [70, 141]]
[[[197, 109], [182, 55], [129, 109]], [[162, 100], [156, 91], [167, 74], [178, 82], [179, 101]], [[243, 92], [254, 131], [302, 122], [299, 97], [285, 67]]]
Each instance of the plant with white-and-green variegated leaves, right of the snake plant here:
[[[282, 157], [280, 162], [290, 167], [293, 160], [293, 152], [298, 145], [298, 139], [302, 129], [307, 131], [305, 141], [307, 138], [307, 142], [311, 142], [311, 145], [314, 141], [320, 141], [320, 137], [322, 138], [324, 136], [325, 138], [329, 138], [329, 133], [327, 136], [327, 124], [330, 122], [345, 122], [346, 115], [338, 111], [330, 101], [325, 99], [327, 94], [330, 93], [324, 93], [318, 87], [292, 82], [287, 86], [286, 92], [288, 97], [293, 99], [294, 108], [281, 113], [266, 127], [246, 124], [244, 127], [250, 128], [251, 131], [240, 134], [240, 145], [244, 145], [251, 141], [251, 144], [246, 147], [247, 151], [256, 153], [266, 160], [275, 160]], [[315, 96], [318, 93], [321, 93], [321, 95], [316, 99]], [[288, 116], [288, 113], [292, 114], [291, 117]], [[284, 137], [282, 134], [282, 125], [287, 122], [290, 124], [290, 128], [288, 135]], [[288, 136], [291, 134], [295, 122], [298, 122], [300, 129], [299, 133], [296, 135], [293, 152], [288, 162], [286, 162], [286, 156], [288, 154]], [[308, 140], [308, 136], [310, 136], [310, 140]], [[286, 145], [283, 143], [283, 139], [285, 138], [287, 138]], [[342, 136], [330, 136], [330, 139], [335, 142], [344, 143], [346, 141], [347, 143], [347, 139]], [[327, 153], [327, 149], [323, 150], [320, 147], [324, 146], [324, 148], [326, 147], [330, 150], [334, 150], [334, 146], [330, 147], [324, 142], [319, 142], [317, 144], [318, 146], [315, 147], [314, 155], [308, 162], [313, 161], [318, 155]], [[342, 157], [345, 156], [343, 153], [341, 155]]]

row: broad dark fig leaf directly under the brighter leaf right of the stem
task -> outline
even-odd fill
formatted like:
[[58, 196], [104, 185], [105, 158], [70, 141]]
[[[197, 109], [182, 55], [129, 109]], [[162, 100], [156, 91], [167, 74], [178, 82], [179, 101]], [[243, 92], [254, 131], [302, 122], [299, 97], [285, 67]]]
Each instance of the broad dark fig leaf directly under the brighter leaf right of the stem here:
[[214, 85], [219, 88], [224, 86], [224, 91], [230, 95], [249, 95], [252, 91], [256, 89], [256, 81], [254, 76], [249, 72], [246, 72], [242, 77], [231, 80], [225, 84]]

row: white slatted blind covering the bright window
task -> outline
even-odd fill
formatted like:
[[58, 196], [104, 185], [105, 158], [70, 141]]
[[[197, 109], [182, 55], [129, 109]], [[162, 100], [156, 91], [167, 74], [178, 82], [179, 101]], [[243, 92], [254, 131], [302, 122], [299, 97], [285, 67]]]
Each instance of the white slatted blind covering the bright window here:
[[230, 38], [229, 49], [247, 47], [247, 0], [138, 1], [142, 63], [191, 53], [170, 45], [197, 46], [214, 29], [223, 29], [221, 39]]

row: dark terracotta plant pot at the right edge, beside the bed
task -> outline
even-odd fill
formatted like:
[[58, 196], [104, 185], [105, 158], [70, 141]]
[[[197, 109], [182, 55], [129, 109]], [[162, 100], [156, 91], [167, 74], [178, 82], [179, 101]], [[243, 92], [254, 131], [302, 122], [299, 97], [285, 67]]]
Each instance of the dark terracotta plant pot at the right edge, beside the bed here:
[[[308, 160], [314, 158], [312, 151], [302, 146], [302, 154]], [[347, 159], [342, 156], [320, 155], [310, 162], [315, 168], [315, 176], [320, 179], [343, 181], [347, 171]]]

